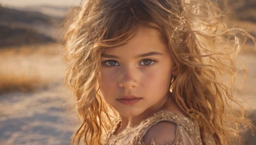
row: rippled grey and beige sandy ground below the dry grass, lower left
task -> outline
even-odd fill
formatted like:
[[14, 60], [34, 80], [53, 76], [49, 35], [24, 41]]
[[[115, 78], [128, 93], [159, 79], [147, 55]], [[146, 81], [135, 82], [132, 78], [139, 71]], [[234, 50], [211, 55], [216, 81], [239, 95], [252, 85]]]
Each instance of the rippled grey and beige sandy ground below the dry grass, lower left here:
[[67, 94], [62, 86], [54, 86], [1, 96], [0, 144], [70, 144], [76, 121]]

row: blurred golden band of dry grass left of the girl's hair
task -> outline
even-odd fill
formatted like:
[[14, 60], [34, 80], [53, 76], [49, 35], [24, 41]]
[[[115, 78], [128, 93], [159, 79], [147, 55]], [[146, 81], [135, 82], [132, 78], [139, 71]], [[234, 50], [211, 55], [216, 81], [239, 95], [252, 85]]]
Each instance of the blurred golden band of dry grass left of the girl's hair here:
[[60, 48], [51, 44], [0, 49], [0, 94], [48, 88], [56, 81], [51, 72], [59, 73]]

